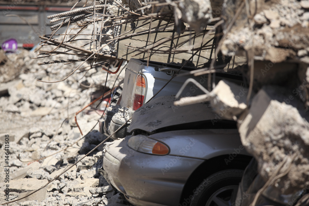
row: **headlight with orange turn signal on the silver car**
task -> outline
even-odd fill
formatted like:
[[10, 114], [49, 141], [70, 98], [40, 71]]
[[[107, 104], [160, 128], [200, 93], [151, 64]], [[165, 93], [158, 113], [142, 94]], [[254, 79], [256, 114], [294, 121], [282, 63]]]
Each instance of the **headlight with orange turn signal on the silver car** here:
[[144, 135], [136, 135], [129, 139], [128, 146], [138, 152], [166, 155], [170, 152], [167, 145]]

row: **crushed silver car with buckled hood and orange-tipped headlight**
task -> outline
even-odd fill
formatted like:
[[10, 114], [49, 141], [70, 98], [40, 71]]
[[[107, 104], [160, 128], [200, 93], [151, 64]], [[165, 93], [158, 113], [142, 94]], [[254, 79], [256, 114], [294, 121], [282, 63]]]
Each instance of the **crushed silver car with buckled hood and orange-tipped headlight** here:
[[235, 122], [216, 119], [207, 103], [174, 99], [135, 111], [133, 135], [108, 143], [100, 172], [135, 205], [232, 205], [251, 159]]

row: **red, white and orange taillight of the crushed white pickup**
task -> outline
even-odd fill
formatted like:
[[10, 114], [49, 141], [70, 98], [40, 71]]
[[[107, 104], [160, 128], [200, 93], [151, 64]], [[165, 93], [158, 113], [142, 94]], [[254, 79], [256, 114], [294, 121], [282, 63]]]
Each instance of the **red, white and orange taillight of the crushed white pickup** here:
[[142, 74], [138, 74], [133, 92], [133, 110], [143, 106], [146, 92], [146, 82]]

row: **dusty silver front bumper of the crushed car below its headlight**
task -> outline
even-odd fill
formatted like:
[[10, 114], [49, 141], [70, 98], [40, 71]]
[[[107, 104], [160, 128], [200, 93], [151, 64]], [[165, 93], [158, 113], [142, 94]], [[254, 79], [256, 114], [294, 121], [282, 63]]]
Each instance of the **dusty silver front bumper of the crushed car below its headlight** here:
[[177, 206], [188, 177], [204, 161], [140, 153], [126, 145], [127, 139], [106, 148], [103, 168], [109, 181], [135, 205]]

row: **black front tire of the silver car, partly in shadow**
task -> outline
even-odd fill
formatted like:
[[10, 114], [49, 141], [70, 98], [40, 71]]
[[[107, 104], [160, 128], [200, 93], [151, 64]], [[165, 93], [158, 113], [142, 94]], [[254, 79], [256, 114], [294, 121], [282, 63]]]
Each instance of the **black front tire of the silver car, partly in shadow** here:
[[223, 170], [210, 175], [194, 191], [190, 206], [231, 206], [235, 200], [243, 170]]

